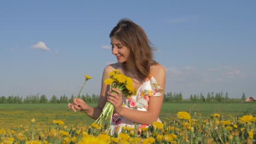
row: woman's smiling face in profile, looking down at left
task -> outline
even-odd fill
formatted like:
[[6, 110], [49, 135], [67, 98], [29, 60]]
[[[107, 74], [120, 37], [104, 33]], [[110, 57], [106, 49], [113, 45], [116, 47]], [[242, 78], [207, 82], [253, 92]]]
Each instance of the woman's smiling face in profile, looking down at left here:
[[118, 39], [111, 38], [112, 54], [117, 57], [119, 63], [124, 63], [129, 58], [129, 50]]

